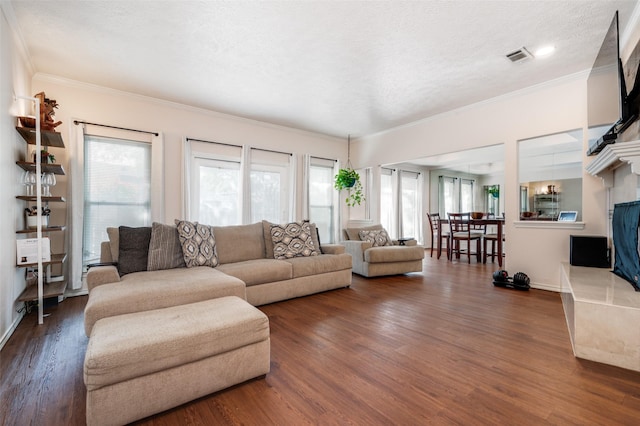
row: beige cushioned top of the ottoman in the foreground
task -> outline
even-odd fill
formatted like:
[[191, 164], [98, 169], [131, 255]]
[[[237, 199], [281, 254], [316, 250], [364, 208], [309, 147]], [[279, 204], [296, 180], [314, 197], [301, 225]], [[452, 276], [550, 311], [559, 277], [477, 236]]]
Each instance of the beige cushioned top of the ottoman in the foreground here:
[[93, 390], [268, 339], [267, 316], [232, 296], [105, 318], [87, 346], [85, 383]]

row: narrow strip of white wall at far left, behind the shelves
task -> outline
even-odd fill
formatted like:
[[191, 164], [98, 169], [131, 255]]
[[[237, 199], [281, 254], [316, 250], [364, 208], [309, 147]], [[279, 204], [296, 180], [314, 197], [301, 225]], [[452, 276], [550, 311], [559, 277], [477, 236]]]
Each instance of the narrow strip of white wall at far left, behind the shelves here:
[[[1, 3], [0, 3], [1, 4]], [[20, 43], [14, 38], [4, 9], [0, 8], [0, 348], [4, 346], [21, 315], [14, 301], [25, 288], [24, 269], [16, 268], [16, 229], [22, 227], [24, 202], [16, 200], [23, 190], [21, 169], [26, 143], [15, 130], [15, 116], [23, 115], [26, 103], [15, 95], [30, 96], [31, 75]]]

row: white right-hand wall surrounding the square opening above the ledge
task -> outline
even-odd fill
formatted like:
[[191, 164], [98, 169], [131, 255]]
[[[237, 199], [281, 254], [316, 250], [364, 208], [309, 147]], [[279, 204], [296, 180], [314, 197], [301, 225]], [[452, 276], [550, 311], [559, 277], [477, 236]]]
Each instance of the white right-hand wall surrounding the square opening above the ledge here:
[[[587, 72], [491, 99], [354, 141], [357, 167], [409, 161], [503, 143], [505, 176], [501, 202], [518, 217], [518, 141], [586, 126]], [[586, 132], [584, 132], [586, 134]], [[393, 146], [393, 149], [389, 147]], [[583, 141], [583, 152], [587, 141]], [[584, 154], [583, 163], [590, 161]], [[516, 228], [508, 219], [506, 264], [525, 272], [538, 288], [561, 289], [560, 263], [569, 260], [569, 235], [606, 235], [606, 194], [600, 179], [583, 171], [583, 230]], [[425, 212], [426, 213], [426, 212]], [[497, 269], [497, 265], [496, 265]]]

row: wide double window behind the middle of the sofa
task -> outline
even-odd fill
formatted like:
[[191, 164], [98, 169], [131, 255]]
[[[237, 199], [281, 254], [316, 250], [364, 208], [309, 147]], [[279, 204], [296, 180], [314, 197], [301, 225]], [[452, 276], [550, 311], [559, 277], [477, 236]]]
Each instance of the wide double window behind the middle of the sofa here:
[[187, 217], [215, 226], [293, 217], [293, 155], [187, 139]]

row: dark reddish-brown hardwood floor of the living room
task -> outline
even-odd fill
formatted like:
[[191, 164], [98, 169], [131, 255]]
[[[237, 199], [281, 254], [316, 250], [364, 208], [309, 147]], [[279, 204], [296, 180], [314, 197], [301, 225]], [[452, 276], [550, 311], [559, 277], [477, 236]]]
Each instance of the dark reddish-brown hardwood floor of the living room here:
[[[262, 306], [266, 378], [138, 424], [638, 424], [640, 373], [575, 358], [560, 295], [495, 288], [495, 269], [427, 257], [423, 273]], [[1, 424], [85, 423], [85, 303], [28, 315], [0, 352]]]

